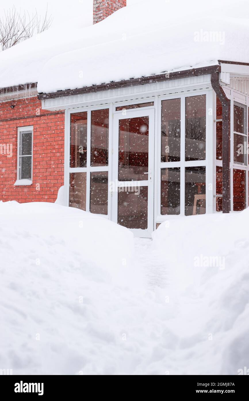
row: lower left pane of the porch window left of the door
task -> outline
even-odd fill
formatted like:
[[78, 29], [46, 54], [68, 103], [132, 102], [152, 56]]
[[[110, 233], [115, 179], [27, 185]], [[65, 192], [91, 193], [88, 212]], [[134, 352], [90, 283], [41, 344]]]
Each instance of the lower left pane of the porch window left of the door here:
[[86, 210], [86, 173], [70, 174], [69, 206]]

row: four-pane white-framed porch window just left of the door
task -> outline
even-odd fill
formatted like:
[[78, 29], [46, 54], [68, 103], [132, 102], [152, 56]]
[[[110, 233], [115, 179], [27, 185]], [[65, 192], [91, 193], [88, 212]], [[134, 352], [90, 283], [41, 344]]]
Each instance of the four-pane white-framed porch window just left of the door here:
[[108, 215], [109, 108], [70, 113], [69, 206]]

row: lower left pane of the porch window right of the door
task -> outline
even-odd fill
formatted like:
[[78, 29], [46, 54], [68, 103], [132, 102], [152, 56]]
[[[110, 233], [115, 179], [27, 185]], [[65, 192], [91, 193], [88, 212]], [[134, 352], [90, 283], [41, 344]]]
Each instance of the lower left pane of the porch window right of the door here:
[[161, 169], [161, 215], [180, 214], [180, 168]]

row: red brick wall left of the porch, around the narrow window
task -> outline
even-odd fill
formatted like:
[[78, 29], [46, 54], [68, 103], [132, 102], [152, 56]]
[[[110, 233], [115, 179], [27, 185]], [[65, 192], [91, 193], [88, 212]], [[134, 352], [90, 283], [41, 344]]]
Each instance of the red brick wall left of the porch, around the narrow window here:
[[[14, 186], [17, 130], [24, 126], [34, 126], [33, 183]], [[0, 144], [12, 144], [11, 157], [0, 153], [0, 200], [54, 202], [64, 184], [64, 111], [42, 110], [37, 97], [0, 103]]]

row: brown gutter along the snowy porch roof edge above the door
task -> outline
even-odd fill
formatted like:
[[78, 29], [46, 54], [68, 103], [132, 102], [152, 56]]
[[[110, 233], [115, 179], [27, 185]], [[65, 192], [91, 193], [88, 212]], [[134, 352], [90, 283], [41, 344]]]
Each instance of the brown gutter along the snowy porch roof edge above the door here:
[[192, 68], [189, 70], [175, 71], [172, 73], [167, 73], [165, 71], [158, 75], [150, 75], [149, 77], [141, 77], [141, 78], [127, 79], [125, 81], [103, 83], [101, 85], [92, 85], [92, 86], [88, 86], [88, 87], [84, 87], [84, 88], [66, 89], [65, 91], [57, 91], [57, 92], [51, 92], [51, 93], [39, 93], [38, 99], [40, 99], [40, 100], [54, 99], [57, 97], [80, 95], [80, 94], [92, 93], [92, 92], [100, 92], [100, 91], [106, 91], [109, 89], [124, 88], [124, 87], [130, 87], [130, 86], [135, 86], [135, 85], [146, 85], [148, 83], [170, 81], [172, 79], [181, 79], [181, 78], [189, 78], [189, 77], [194, 77], [194, 76], [199, 76], [199, 75], [207, 75], [207, 74], [211, 74], [213, 72], [221, 72], [221, 66], [220, 65], [211, 65], [208, 67]]

